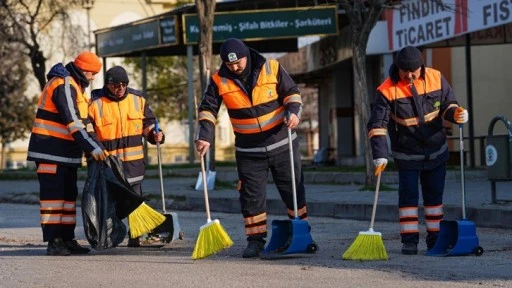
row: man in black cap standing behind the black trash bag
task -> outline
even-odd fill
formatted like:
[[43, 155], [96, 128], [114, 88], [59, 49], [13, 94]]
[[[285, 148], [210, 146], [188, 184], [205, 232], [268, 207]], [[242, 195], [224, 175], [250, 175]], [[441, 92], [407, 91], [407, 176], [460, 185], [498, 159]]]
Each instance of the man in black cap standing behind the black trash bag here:
[[[123, 162], [126, 179], [142, 195], [145, 163], [142, 137], [149, 143], [163, 143], [162, 131], [155, 131], [156, 118], [146, 96], [128, 87], [126, 70], [121, 66], [108, 69], [105, 85], [91, 93], [89, 117], [98, 139], [108, 153]], [[130, 238], [128, 247], [138, 247], [138, 238]]]

